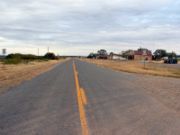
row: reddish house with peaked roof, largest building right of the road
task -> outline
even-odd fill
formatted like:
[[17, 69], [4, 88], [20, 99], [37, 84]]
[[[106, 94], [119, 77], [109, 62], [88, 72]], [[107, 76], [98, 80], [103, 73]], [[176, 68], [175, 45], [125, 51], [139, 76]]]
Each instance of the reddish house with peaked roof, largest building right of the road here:
[[146, 48], [134, 51], [134, 60], [152, 60], [152, 52]]

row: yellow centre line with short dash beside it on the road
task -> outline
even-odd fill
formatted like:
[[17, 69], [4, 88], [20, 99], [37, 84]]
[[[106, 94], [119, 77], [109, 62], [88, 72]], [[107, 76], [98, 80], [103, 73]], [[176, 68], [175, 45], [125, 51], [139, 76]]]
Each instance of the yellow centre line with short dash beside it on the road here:
[[73, 61], [73, 71], [74, 71], [74, 79], [75, 79], [76, 90], [77, 90], [77, 100], [78, 100], [79, 115], [80, 115], [80, 121], [81, 121], [81, 127], [82, 127], [82, 135], [89, 135], [89, 128], [87, 125], [86, 113], [85, 113], [85, 108], [84, 108], [84, 105], [87, 104], [87, 98], [85, 96], [84, 90], [80, 88], [78, 72], [76, 70], [76, 65], [74, 61]]

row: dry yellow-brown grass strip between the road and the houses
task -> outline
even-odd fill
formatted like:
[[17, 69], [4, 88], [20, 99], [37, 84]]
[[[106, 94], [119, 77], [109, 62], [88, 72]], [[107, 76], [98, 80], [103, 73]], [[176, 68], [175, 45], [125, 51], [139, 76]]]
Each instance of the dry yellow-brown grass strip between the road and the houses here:
[[94, 63], [96, 65], [111, 68], [117, 71], [129, 73], [139, 73], [155, 76], [175, 77], [180, 78], [180, 66], [170, 67], [164, 64], [146, 63], [139, 61], [112, 61], [112, 60], [97, 60], [97, 59], [82, 59], [83, 61]]

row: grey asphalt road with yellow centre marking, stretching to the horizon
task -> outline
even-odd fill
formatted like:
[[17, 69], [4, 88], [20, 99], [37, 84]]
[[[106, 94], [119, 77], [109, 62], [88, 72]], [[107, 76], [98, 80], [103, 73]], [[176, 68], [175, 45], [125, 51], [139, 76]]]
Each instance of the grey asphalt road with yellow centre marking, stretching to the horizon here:
[[139, 89], [135, 75], [74, 61], [0, 96], [0, 135], [180, 134], [180, 115]]

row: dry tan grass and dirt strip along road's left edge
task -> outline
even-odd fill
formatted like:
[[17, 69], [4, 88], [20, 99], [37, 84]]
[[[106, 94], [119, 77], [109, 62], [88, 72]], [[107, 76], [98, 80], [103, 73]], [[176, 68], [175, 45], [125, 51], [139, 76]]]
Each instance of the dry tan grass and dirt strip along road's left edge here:
[[28, 64], [4, 65], [0, 63], [0, 94], [8, 88], [20, 84], [22, 81], [52, 69], [56, 64], [64, 60], [51, 60], [30, 62]]

